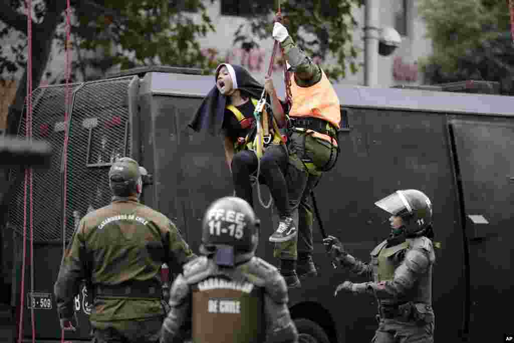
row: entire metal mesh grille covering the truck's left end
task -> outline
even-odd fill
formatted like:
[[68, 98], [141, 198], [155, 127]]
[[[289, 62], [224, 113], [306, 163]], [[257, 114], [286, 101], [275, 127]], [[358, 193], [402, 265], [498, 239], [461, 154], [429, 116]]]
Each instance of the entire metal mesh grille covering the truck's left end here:
[[[127, 88], [131, 79], [70, 86], [74, 95], [67, 148], [66, 239], [71, 238], [87, 212], [110, 202], [108, 168], [117, 157], [130, 156]], [[53, 148], [51, 168], [33, 172], [34, 241], [62, 240], [65, 92], [66, 87], [59, 85], [40, 87], [32, 93], [32, 135], [34, 139], [48, 140]], [[25, 127], [23, 118], [20, 137], [25, 136]], [[14, 230], [23, 232], [23, 218], [22, 182], [9, 207], [9, 222]]]

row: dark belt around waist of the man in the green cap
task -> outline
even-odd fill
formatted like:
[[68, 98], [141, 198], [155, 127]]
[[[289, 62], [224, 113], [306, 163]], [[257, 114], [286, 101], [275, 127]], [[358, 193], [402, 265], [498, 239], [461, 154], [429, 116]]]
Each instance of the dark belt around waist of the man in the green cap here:
[[95, 297], [155, 298], [162, 297], [161, 285], [155, 280], [131, 281], [119, 285], [97, 285]]

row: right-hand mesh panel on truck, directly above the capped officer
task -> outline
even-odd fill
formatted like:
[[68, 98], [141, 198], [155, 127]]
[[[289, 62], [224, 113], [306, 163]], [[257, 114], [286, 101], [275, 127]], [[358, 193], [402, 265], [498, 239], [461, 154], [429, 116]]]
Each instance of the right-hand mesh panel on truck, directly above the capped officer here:
[[127, 88], [132, 77], [85, 83], [77, 89], [68, 138], [66, 238], [80, 218], [111, 201], [108, 168], [130, 155]]

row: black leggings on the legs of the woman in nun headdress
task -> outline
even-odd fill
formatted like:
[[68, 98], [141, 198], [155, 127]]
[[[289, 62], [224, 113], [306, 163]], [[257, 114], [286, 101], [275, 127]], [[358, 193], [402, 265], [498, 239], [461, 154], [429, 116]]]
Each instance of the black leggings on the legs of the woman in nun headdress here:
[[[268, 186], [279, 215], [289, 216], [289, 197], [284, 173], [287, 168], [287, 151], [284, 146], [270, 145], [261, 158], [260, 177]], [[235, 195], [246, 200], [253, 207], [253, 193], [250, 174], [257, 170], [257, 156], [253, 151], [243, 150], [232, 159], [232, 178]]]

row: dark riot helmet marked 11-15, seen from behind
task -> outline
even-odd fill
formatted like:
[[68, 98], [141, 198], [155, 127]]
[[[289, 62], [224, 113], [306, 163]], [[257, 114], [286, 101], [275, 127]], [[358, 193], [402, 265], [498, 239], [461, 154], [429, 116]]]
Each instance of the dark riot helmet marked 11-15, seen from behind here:
[[214, 255], [218, 265], [249, 260], [259, 244], [260, 222], [242, 198], [226, 196], [212, 203], [204, 215], [200, 254]]

